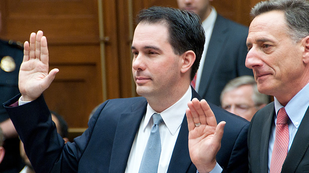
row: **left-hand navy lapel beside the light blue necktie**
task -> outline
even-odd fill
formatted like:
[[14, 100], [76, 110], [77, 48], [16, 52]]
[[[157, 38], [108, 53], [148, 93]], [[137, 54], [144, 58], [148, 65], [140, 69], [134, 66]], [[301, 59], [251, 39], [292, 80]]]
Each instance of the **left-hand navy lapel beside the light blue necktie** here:
[[113, 144], [109, 172], [125, 172], [131, 147], [146, 113], [146, 99], [132, 105], [132, 112], [120, 116]]

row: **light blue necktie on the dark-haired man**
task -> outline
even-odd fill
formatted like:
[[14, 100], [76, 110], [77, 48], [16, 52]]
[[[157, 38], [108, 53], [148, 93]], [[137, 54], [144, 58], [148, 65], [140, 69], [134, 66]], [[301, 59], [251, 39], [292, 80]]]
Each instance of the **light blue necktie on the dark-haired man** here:
[[139, 173], [157, 173], [161, 154], [159, 124], [163, 122], [160, 114], [152, 115], [153, 126], [143, 154]]

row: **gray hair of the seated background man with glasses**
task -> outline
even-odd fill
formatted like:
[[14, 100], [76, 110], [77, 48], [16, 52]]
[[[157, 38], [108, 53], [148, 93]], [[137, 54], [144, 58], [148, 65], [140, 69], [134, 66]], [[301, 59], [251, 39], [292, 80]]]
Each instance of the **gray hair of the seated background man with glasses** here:
[[253, 88], [253, 95], [252, 100], [255, 104], [255, 106], [260, 106], [262, 104], [268, 104], [269, 103], [269, 96], [262, 94], [257, 89], [257, 83], [254, 80], [253, 76], [240, 76], [237, 78], [234, 78], [230, 80], [226, 86], [223, 88], [221, 95], [220, 95], [220, 101], [222, 102], [223, 95], [226, 92], [232, 91], [236, 88], [239, 88], [244, 85], [251, 85]]

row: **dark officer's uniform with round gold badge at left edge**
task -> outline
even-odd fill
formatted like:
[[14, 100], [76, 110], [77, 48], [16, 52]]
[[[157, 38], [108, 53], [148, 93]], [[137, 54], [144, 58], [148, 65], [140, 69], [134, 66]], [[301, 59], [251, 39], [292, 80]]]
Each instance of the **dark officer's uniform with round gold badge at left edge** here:
[[[0, 122], [9, 118], [2, 103], [19, 93], [18, 74], [23, 62], [23, 44], [14, 41], [0, 40]], [[5, 140], [6, 153], [0, 164], [0, 172], [19, 172], [21, 157], [19, 153], [19, 139]]]

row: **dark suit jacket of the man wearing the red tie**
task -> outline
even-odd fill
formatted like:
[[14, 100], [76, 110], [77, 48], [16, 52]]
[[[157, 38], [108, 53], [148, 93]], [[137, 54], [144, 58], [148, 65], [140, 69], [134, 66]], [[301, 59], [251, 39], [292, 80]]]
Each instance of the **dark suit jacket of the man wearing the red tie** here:
[[[267, 172], [268, 143], [275, 108], [271, 102], [259, 110], [251, 120], [248, 132], [250, 172]], [[309, 110], [307, 109], [287, 153], [281, 172], [309, 172]]]

